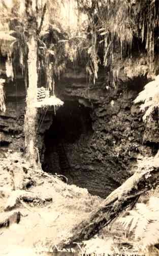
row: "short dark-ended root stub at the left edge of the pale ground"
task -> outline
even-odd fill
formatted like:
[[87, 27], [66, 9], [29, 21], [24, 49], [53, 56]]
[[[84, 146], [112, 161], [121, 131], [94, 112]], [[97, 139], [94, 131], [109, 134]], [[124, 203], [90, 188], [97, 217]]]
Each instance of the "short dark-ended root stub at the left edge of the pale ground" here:
[[20, 221], [20, 212], [15, 212], [10, 214], [8, 217], [4, 217], [3, 214], [0, 215], [0, 228], [1, 227], [8, 227], [9, 225], [11, 225], [12, 223], [19, 223]]

